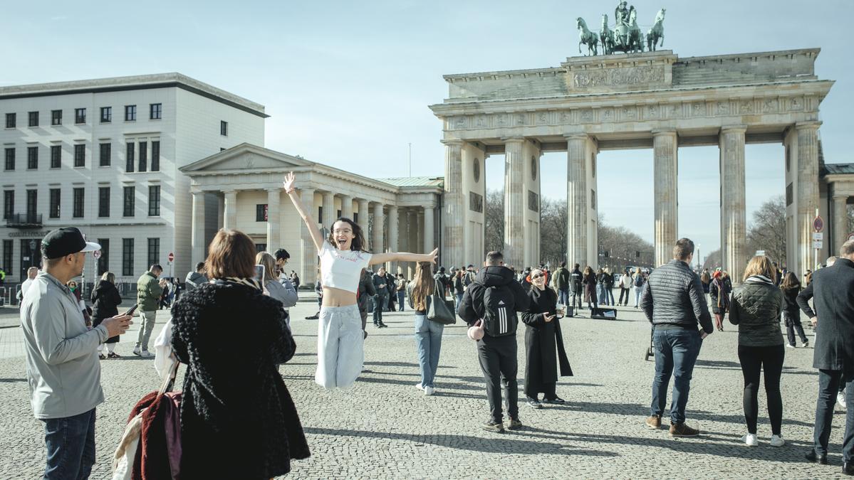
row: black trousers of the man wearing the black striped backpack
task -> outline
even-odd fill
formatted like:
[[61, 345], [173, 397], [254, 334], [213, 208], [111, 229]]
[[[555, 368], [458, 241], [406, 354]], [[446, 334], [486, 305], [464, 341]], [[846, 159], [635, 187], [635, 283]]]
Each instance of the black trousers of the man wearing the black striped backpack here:
[[[507, 414], [510, 415], [511, 419], [519, 418], [516, 351], [516, 335], [507, 335], [506, 337], [484, 336], [477, 340], [477, 360], [480, 361], [483, 379], [486, 380], [489, 413], [496, 422], [500, 422], [502, 419], [501, 385], [504, 385]], [[499, 379], [501, 385], [499, 385]]]

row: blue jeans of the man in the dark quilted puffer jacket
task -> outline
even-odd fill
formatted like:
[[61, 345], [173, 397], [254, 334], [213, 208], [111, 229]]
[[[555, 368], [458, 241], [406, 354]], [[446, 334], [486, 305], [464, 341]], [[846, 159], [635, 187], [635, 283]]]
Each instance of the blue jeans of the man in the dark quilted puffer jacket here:
[[655, 378], [652, 379], [650, 415], [661, 415], [667, 402], [667, 385], [673, 376], [673, 398], [670, 402], [670, 423], [685, 422], [685, 406], [691, 390], [691, 375], [699, 356], [703, 339], [695, 328], [656, 329], [652, 335], [655, 345]]

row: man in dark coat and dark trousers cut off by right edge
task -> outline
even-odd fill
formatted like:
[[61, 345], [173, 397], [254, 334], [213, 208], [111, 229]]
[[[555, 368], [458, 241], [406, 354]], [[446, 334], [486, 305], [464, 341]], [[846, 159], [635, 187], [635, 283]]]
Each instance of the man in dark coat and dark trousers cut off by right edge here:
[[[816, 326], [812, 366], [818, 369], [813, 448], [807, 460], [827, 463], [830, 425], [839, 384], [845, 382], [845, 442], [842, 471], [854, 475], [854, 240], [839, 249], [833, 266], [816, 270], [798, 294], [798, 306]], [[810, 309], [810, 298], [816, 307]]]

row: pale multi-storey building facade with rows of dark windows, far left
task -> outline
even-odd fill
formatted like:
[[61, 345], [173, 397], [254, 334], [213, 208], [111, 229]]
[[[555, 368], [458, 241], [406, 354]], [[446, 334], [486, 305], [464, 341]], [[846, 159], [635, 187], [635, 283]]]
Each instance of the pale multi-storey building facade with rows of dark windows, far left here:
[[[135, 120], [126, 120], [125, 107], [130, 105], [136, 106]], [[160, 106], [159, 119], [151, 118], [152, 105]], [[108, 122], [101, 119], [102, 107], [112, 108]], [[75, 121], [79, 108], [85, 108], [81, 123]], [[61, 124], [52, 122], [55, 110], [61, 110]], [[29, 126], [30, 112], [38, 112], [38, 126]], [[30, 241], [38, 248], [47, 231], [63, 226], [80, 228], [90, 240], [109, 241], [107, 262], [101, 268], [114, 272], [117, 281], [133, 282], [148, 268], [149, 239], [159, 242], [152, 260], [168, 274], [167, 255], [173, 252], [171, 267], [183, 280], [195, 259], [190, 258], [190, 179], [178, 168], [243, 142], [263, 144], [266, 118], [263, 106], [178, 73], [3, 87], [0, 127], [6, 127], [7, 113], [15, 114], [15, 126], [0, 128], [0, 189], [4, 192], [0, 201], [4, 214], [19, 216], [4, 215], [0, 223], [0, 265], [7, 269], [8, 283], [20, 281], [30, 263], [38, 264], [26, 252]], [[221, 122], [227, 123], [225, 132], [220, 130]], [[140, 147], [142, 142], [145, 147]], [[159, 142], [158, 171], [151, 171], [154, 142]], [[102, 144], [110, 145], [105, 166], [101, 166]], [[85, 148], [82, 166], [75, 166], [75, 145]], [[127, 168], [128, 145], [135, 157], [133, 171]], [[54, 146], [61, 150], [58, 166], [51, 165]], [[29, 147], [38, 147], [37, 168], [28, 168], [33, 166], [27, 161]], [[6, 151], [11, 148], [15, 165], [7, 169]], [[140, 171], [141, 153], [145, 171]], [[99, 188], [107, 187], [109, 208], [99, 211]], [[135, 188], [132, 215], [125, 215], [126, 187]], [[152, 215], [150, 187], [160, 187], [160, 211], [150, 211]], [[74, 188], [84, 188], [80, 216], [73, 215]], [[58, 217], [50, 211], [51, 189], [60, 192]], [[27, 197], [32, 194], [28, 190], [35, 190], [37, 198], [29, 209]], [[14, 195], [9, 211], [5, 192]], [[123, 252], [124, 239], [133, 240], [132, 263], [126, 257], [129, 252]], [[87, 282], [95, 278], [97, 269], [93, 259], [86, 263]]]

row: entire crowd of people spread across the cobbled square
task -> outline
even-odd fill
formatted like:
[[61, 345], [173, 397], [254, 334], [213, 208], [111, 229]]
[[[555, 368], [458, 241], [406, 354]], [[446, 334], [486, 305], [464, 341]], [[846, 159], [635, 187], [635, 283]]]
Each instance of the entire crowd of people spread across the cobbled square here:
[[[295, 193], [294, 179], [293, 174], [287, 176], [284, 189], [319, 255], [314, 379], [323, 388], [348, 389], [356, 383], [364, 363], [369, 311], [374, 326], [383, 328], [383, 311], [397, 309], [412, 312], [420, 371], [415, 387], [425, 396], [435, 395], [441, 387], [436, 385], [436, 373], [447, 323], [442, 321], [442, 308], [451, 298], [451, 315], [465, 321], [467, 335], [476, 343], [488, 401], [482, 428], [517, 430], [523, 428], [517, 380], [520, 323], [525, 403], [529, 408], [562, 404], [559, 377], [573, 372], [561, 319], [577, 315], [582, 298], [589, 309], [628, 306], [634, 289], [635, 308], [652, 324], [655, 351], [652, 401], [644, 425], [662, 428], [673, 379], [670, 436], [700, 434], [686, 423], [693, 367], [705, 338], [722, 330], [728, 315], [738, 328], [737, 353], [744, 376], [742, 442], [759, 443], [757, 393], [763, 373], [772, 430], [769, 443], [779, 447], [785, 443], [780, 393], [784, 345], [793, 346], [796, 333], [804, 346], [809, 344], [799, 321], [803, 312], [816, 326], [814, 367], [819, 371], [815, 437], [806, 459], [827, 463], [834, 403], [844, 390], [843, 471], [854, 474], [854, 241], [842, 246], [839, 259], [828, 262], [828, 268], [810, 272], [804, 288], [792, 272], [783, 275], [768, 257], [752, 258], [738, 282], [721, 270], [698, 273], [690, 266], [694, 246], [688, 239], [678, 240], [673, 260], [652, 271], [626, 269], [615, 275], [608, 268], [594, 271], [575, 263], [570, 269], [560, 263], [553, 271], [540, 265], [517, 273], [505, 266], [501, 252], [488, 252], [479, 268], [469, 264], [446, 271], [436, 268], [436, 250], [367, 252], [361, 226], [348, 218], [338, 218], [324, 237]], [[122, 298], [109, 272], [91, 292], [90, 315], [73, 281], [82, 272], [85, 253], [99, 246], [86, 242], [77, 228], [50, 232], [42, 246], [44, 269], [32, 276], [28, 272], [28, 283], [21, 289], [32, 410], [44, 422], [45, 477], [86, 478], [95, 461], [95, 412], [104, 401], [99, 359], [118, 357], [115, 344], [132, 324], [132, 315], [119, 313]], [[289, 259], [284, 249], [256, 252], [247, 235], [220, 230], [208, 247], [208, 257], [196, 264], [184, 280], [184, 292], [173, 299], [171, 319], [157, 342], [171, 353], [167, 354], [174, 360], [171, 374], [179, 364], [187, 366], [178, 396], [181, 477], [270, 478], [290, 471], [291, 460], [310, 455], [296, 406], [278, 373], [278, 367], [295, 354], [289, 309], [297, 302], [299, 278], [293, 270], [287, 273]], [[387, 272], [384, 265], [392, 262], [414, 263], [412, 279]], [[262, 266], [260, 274], [257, 265]], [[378, 267], [376, 273], [372, 265]], [[137, 281], [135, 307], [142, 324], [133, 349], [137, 356], [152, 356], [150, 336], [170, 283], [161, 278], [162, 271], [160, 265], [151, 265]], [[238, 317], [252, 321], [234, 328], [230, 319]], [[785, 339], [781, 318], [787, 327]], [[160, 349], [157, 352], [161, 355]], [[157, 395], [144, 396], [133, 412], [149, 415], [149, 422], [168, 422], [167, 413], [161, 413], [162, 403], [173, 398], [161, 388]], [[136, 434], [143, 457], [149, 460], [137, 465], [135, 453], [126, 451], [133, 476], [169, 475], [169, 462], [159, 456], [173, 452], [164, 450], [165, 443], [150, 429]], [[129, 435], [134, 435], [130, 427], [125, 437]]]

